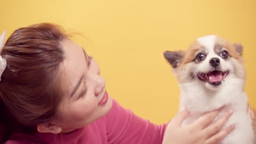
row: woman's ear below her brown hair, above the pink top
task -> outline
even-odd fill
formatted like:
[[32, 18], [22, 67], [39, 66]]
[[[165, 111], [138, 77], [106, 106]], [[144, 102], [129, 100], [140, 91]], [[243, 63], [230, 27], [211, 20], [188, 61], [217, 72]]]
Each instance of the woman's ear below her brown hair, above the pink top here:
[[43, 123], [37, 125], [37, 131], [40, 133], [60, 134], [62, 128], [53, 123]]

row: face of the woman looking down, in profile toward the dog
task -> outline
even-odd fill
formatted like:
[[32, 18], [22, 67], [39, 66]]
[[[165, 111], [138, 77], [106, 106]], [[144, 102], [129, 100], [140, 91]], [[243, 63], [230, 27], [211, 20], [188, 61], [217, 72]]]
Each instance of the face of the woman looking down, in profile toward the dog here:
[[69, 39], [61, 44], [66, 53], [62, 69], [67, 91], [57, 110], [56, 122], [61, 133], [68, 133], [105, 116], [112, 107], [112, 99], [96, 61]]

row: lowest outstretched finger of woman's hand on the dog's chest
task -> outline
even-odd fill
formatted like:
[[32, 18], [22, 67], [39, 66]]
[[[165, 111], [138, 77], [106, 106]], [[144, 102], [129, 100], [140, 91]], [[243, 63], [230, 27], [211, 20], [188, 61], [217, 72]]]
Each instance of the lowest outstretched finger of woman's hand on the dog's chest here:
[[215, 144], [215, 143], [219, 142], [234, 129], [235, 129], [235, 125], [231, 125], [230, 127], [226, 128], [222, 131], [219, 131], [219, 133], [217, 133], [216, 135], [213, 135], [209, 139], [207, 139], [205, 141], [205, 144], [213, 144], [213, 143]]

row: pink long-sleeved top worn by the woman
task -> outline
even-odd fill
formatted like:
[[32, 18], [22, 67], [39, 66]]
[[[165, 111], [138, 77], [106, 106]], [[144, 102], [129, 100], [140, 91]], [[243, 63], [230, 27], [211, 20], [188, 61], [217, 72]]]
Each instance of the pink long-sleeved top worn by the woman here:
[[124, 109], [117, 101], [109, 113], [84, 128], [68, 134], [35, 133], [33, 135], [16, 133], [6, 144], [28, 143], [162, 143], [166, 124], [156, 125]]

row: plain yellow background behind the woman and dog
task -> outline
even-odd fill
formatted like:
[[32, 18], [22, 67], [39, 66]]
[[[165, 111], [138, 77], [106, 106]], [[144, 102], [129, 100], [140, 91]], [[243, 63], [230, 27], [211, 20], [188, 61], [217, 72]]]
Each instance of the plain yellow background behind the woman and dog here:
[[0, 0], [0, 31], [9, 36], [54, 22], [82, 33], [86, 39], [75, 41], [100, 65], [108, 93], [137, 115], [166, 123], [178, 110], [179, 87], [162, 53], [187, 49], [203, 35], [244, 46], [245, 90], [256, 108], [255, 15], [255, 0]]

